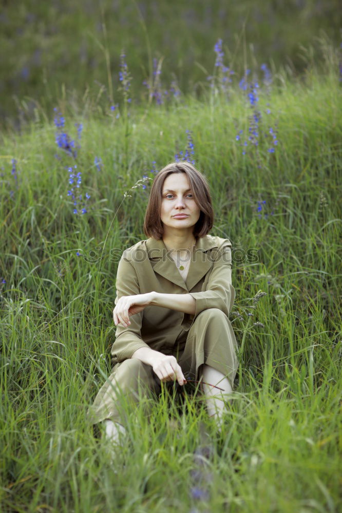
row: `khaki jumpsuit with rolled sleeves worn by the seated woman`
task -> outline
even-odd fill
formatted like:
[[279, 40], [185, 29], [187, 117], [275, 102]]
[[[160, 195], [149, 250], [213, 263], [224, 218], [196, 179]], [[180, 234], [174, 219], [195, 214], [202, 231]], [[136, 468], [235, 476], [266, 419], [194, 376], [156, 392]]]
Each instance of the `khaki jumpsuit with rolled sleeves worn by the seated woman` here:
[[160, 292], [190, 293], [196, 300], [195, 314], [160, 306], [147, 306], [130, 315], [130, 325], [119, 324], [111, 347], [111, 374], [87, 411], [96, 424], [105, 419], [122, 423], [115, 390], [125, 399], [139, 401], [139, 389], [160, 392], [160, 379], [150, 365], [132, 354], [150, 347], [173, 355], [188, 379], [199, 379], [199, 368], [207, 364], [222, 372], [233, 388], [238, 368], [237, 342], [228, 319], [234, 304], [232, 252], [229, 239], [205, 235], [197, 239], [186, 280], [181, 277], [162, 239], [149, 238], [126, 249], [117, 272], [117, 297]]

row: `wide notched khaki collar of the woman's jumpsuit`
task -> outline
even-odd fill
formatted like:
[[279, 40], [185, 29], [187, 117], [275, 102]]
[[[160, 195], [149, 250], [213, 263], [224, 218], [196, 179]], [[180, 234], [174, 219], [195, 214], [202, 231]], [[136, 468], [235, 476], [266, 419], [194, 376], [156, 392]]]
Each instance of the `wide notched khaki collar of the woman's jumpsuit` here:
[[192, 290], [196, 283], [203, 278], [204, 274], [211, 269], [215, 259], [211, 257], [210, 250], [217, 247], [217, 241], [212, 235], [204, 235], [204, 237], [197, 239], [196, 248], [190, 261], [186, 281], [184, 282], [163, 240], [157, 240], [153, 237], [146, 240], [148, 258], [153, 266], [153, 270], [167, 280], [179, 285], [187, 292]]

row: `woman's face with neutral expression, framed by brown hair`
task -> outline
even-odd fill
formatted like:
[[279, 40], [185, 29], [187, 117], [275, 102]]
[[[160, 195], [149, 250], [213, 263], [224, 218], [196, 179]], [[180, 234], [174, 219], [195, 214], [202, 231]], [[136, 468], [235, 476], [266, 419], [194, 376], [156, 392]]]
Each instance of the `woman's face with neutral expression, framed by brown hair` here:
[[[200, 216], [194, 193], [190, 188], [187, 176], [182, 173], [170, 173], [164, 180], [161, 202], [161, 220], [165, 227], [184, 229], [193, 227]], [[187, 214], [182, 219], [175, 215]]]

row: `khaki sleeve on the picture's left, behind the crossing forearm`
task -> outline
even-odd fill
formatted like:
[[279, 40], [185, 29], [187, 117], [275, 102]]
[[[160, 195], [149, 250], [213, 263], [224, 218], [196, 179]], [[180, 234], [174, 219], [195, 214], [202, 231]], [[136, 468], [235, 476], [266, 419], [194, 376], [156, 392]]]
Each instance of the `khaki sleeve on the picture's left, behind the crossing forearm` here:
[[[116, 281], [117, 297], [115, 305], [123, 295], [140, 294], [137, 272], [132, 263], [122, 255], [118, 265]], [[112, 363], [121, 363], [132, 357], [132, 354], [140, 347], [149, 347], [141, 338], [141, 322], [143, 310], [129, 316], [130, 325], [118, 324], [115, 336], [116, 340], [111, 348]]]

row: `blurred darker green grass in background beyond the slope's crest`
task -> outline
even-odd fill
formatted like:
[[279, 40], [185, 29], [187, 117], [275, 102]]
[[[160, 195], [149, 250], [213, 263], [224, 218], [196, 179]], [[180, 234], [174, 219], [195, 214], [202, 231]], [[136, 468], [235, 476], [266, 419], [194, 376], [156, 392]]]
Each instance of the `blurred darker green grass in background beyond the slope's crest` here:
[[0, 125], [18, 127], [35, 108], [51, 111], [56, 97], [85, 89], [118, 102], [122, 49], [134, 100], [146, 95], [142, 83], [153, 77], [154, 58], [163, 90], [176, 81], [181, 91], [200, 94], [214, 73], [219, 38], [225, 65], [240, 78], [262, 63], [300, 73], [324, 58], [321, 40], [340, 45], [341, 12], [338, 0], [25, 0], [4, 2], [0, 27]]

